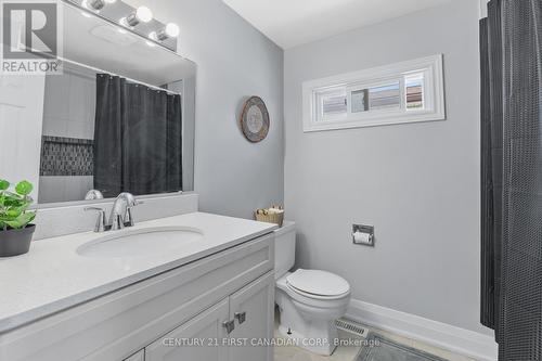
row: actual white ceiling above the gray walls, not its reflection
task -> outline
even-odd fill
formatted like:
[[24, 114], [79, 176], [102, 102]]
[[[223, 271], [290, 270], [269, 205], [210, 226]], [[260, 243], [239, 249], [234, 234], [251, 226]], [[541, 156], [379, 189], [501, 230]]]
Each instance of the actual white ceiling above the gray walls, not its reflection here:
[[223, 0], [283, 49], [450, 0]]

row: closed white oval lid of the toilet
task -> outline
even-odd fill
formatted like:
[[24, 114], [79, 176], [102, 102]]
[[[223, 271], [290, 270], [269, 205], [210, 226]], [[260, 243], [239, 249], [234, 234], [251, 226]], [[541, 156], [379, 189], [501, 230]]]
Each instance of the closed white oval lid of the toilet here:
[[338, 296], [350, 291], [348, 281], [326, 271], [299, 269], [286, 278], [294, 288], [318, 296]]

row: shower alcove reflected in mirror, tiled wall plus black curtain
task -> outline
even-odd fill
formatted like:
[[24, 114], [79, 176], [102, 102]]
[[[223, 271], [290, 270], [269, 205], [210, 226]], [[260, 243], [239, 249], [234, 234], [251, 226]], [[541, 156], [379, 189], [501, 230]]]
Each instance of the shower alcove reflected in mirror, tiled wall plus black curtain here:
[[184, 190], [182, 80], [164, 88], [69, 62], [46, 76], [38, 202]]

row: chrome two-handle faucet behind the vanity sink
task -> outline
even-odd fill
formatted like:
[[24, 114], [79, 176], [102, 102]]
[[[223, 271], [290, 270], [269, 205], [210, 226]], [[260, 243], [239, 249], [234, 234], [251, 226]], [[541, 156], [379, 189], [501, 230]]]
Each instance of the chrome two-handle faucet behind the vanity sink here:
[[103, 208], [87, 207], [85, 210], [96, 210], [100, 212], [94, 232], [116, 231], [134, 224], [132, 208], [142, 203], [141, 201], [137, 201], [131, 193], [120, 193], [113, 204], [108, 221], [105, 220], [105, 210]]

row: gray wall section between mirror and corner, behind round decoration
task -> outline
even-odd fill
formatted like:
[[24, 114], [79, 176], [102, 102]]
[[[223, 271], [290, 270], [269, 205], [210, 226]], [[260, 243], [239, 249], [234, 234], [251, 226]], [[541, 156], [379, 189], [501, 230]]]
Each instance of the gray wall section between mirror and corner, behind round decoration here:
[[[179, 53], [197, 63], [195, 191], [199, 209], [251, 218], [283, 202], [283, 51], [221, 0], [130, 0], [181, 28]], [[261, 96], [271, 129], [258, 144], [237, 125], [243, 100]]]

